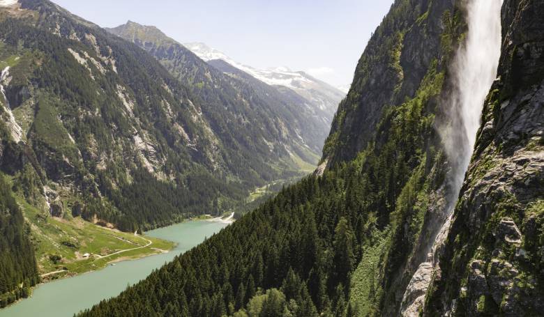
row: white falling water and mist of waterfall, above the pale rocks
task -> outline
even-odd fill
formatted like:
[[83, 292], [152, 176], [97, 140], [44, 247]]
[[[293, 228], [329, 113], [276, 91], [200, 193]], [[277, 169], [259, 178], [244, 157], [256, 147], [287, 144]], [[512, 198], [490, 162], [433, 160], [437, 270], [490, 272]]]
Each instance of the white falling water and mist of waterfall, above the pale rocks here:
[[501, 54], [501, 6], [502, 0], [467, 2], [467, 38], [458, 49], [451, 68], [455, 89], [449, 106], [452, 125], [451, 130], [442, 132], [446, 154], [452, 164], [449, 212], [453, 211], [469, 167], [485, 98], [497, 77]]

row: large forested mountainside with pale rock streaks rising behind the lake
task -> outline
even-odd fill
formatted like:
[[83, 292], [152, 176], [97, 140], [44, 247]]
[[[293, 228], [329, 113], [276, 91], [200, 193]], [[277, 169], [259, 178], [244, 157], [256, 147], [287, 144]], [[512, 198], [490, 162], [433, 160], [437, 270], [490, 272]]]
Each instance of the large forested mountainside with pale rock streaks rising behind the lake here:
[[45, 0], [0, 6], [0, 40], [1, 171], [56, 217], [163, 226], [225, 212], [317, 162], [324, 137], [296, 137], [305, 118], [189, 51], [183, 82]]

